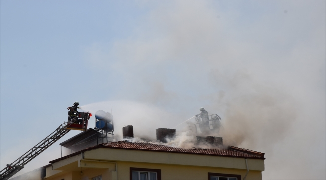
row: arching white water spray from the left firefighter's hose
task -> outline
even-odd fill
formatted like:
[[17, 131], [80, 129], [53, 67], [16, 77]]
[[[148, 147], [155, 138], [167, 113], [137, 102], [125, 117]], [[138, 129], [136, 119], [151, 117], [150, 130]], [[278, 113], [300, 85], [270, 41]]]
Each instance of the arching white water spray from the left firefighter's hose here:
[[[125, 100], [93, 103], [81, 106], [81, 108], [93, 114], [97, 110], [111, 112], [112, 108], [114, 133], [117, 134], [117, 140], [122, 139], [122, 127], [126, 125], [134, 126], [135, 136], [156, 139], [157, 128], [171, 128], [173, 121], [178, 119], [178, 116], [158, 107]], [[94, 118], [92, 119], [89, 121], [89, 124], [95, 124]]]

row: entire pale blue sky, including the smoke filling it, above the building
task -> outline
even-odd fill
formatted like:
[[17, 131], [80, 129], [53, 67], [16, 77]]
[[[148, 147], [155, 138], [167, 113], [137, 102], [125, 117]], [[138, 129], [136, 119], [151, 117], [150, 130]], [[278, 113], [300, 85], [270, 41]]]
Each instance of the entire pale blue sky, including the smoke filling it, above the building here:
[[325, 179], [325, 32], [325, 0], [1, 0], [0, 168], [79, 101], [113, 106], [117, 135], [153, 136], [205, 107], [224, 142], [266, 153], [264, 179]]

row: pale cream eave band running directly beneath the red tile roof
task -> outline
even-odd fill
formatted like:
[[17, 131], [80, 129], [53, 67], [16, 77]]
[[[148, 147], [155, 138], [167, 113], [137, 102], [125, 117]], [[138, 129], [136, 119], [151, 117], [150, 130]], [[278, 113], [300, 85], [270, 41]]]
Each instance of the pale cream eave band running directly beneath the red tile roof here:
[[[84, 158], [90, 160], [129, 161], [172, 165], [194, 165], [202, 167], [221, 167], [243, 170], [247, 169], [244, 158], [143, 150], [99, 148], [84, 152]], [[265, 170], [264, 160], [262, 159], [248, 159], [248, 166], [250, 170]]]

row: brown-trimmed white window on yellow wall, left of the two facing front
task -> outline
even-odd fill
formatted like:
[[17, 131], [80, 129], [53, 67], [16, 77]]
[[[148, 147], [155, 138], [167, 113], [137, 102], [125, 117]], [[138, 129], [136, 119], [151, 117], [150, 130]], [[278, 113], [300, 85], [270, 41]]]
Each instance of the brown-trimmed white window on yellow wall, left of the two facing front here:
[[161, 171], [130, 167], [130, 180], [161, 180]]

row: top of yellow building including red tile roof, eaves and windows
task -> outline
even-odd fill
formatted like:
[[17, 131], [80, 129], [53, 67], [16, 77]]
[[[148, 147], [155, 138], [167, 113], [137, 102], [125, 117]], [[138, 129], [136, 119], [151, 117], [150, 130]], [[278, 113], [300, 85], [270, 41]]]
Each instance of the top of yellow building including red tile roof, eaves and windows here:
[[262, 179], [264, 153], [226, 149], [183, 149], [164, 144], [118, 141], [50, 161], [47, 180], [240, 180]]

